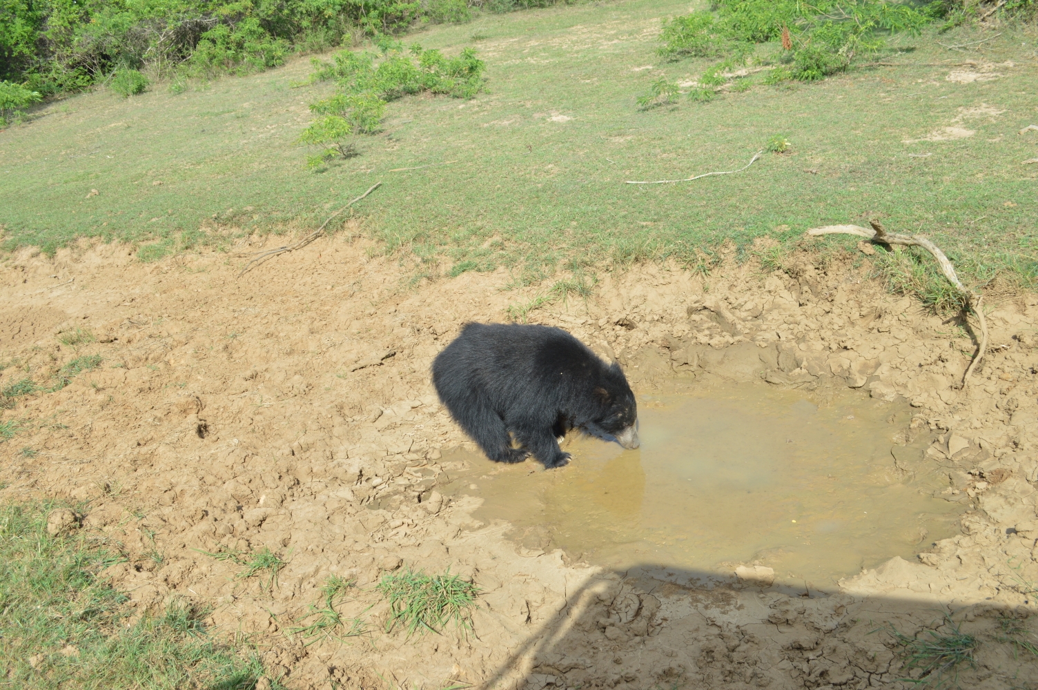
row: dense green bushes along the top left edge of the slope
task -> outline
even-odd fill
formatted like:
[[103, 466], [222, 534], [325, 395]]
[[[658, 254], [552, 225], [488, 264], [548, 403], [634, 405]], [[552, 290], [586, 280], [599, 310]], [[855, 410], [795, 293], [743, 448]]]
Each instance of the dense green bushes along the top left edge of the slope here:
[[[554, 0], [475, 3], [545, 4]], [[248, 73], [293, 51], [469, 17], [466, 0], [0, 0], [0, 81], [50, 95], [145, 67]]]

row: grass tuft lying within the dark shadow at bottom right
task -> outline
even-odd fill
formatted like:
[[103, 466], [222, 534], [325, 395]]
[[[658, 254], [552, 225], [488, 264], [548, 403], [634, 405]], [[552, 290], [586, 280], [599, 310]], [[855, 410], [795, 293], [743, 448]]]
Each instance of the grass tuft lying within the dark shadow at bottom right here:
[[974, 653], [980, 641], [963, 633], [960, 625], [946, 613], [940, 628], [948, 632], [927, 630], [923, 637], [909, 637], [891, 625], [887, 633], [901, 645], [903, 668], [911, 674], [911, 678], [902, 680], [935, 688], [946, 684], [956, 686], [958, 671], [963, 664], [976, 668]]

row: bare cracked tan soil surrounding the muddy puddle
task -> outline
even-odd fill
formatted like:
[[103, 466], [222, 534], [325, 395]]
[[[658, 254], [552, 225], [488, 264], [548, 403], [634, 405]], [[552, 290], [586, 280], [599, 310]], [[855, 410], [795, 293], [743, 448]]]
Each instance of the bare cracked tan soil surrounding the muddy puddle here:
[[[84, 527], [121, 543], [129, 562], [108, 575], [141, 612], [176, 596], [212, 606], [218, 630], [251, 634], [293, 688], [909, 687], [897, 642], [874, 631], [923, 634], [941, 610], [981, 640], [964, 687], [1038, 687], [1035, 658], [1006, 632], [1033, 640], [1033, 296], [989, 298], [992, 349], [965, 390], [974, 344], [959, 322], [807, 251], [772, 274], [640, 266], [602, 276], [586, 303], [534, 312], [619, 358], [636, 390], [683, 371], [903, 396], [936, 440], [899, 470], [938, 465], [949, 500], [971, 508], [961, 534], [831, 596], [757, 586], [763, 569], [687, 589], [672, 572], [518, 547], [471, 518], [476, 499], [440, 495], [463, 469], [448, 451], [471, 444], [433, 394], [431, 360], [462, 323], [503, 321], [537, 289], [502, 291], [503, 271], [408, 286], [364, 249], [320, 241], [241, 279], [243, 261], [218, 253], [142, 265], [125, 246], [84, 244], [9, 256], [0, 385], [27, 370], [45, 384], [84, 354], [104, 363], [3, 410], [22, 431], [0, 444], [0, 499], [88, 499]], [[97, 340], [63, 344], [76, 328]], [[288, 560], [273, 587], [200, 553], [265, 546]], [[472, 631], [384, 632], [372, 585], [402, 564], [481, 586]], [[343, 611], [367, 633], [288, 636], [331, 574], [356, 579]]]

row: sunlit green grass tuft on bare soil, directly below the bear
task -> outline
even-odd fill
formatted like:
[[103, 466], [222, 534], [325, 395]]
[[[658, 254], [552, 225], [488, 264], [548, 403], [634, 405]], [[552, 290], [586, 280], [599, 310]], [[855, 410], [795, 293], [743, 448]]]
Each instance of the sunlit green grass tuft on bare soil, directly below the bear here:
[[408, 636], [419, 631], [438, 633], [450, 622], [456, 628], [468, 629], [470, 610], [479, 594], [474, 584], [449, 572], [426, 575], [410, 568], [384, 575], [376, 589], [389, 602], [386, 632], [400, 625], [407, 629]]

